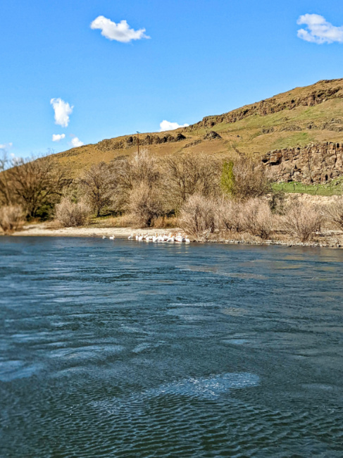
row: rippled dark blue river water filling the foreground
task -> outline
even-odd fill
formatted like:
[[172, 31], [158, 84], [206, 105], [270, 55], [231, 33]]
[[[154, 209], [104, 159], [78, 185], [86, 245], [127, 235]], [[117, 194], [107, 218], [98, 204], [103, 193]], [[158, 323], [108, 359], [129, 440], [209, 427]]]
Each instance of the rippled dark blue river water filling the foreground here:
[[342, 457], [343, 251], [0, 239], [1, 457]]

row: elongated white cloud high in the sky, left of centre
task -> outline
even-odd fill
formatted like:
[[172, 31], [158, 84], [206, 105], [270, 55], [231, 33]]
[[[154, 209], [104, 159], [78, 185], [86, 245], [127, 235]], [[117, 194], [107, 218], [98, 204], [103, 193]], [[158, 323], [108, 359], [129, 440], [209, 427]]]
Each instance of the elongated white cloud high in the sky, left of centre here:
[[99, 29], [103, 37], [111, 40], [115, 39], [121, 43], [129, 43], [132, 39], [150, 38], [145, 35], [145, 29], [130, 29], [126, 20], [121, 20], [120, 23], [116, 24], [104, 16], [98, 16], [94, 19], [91, 29]]

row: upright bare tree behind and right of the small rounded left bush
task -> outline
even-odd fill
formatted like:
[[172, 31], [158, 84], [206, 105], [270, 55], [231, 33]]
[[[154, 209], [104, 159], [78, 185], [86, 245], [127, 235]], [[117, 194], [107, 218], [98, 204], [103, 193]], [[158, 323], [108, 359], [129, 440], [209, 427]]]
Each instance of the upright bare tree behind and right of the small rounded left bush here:
[[79, 179], [82, 197], [96, 211], [96, 216], [111, 204], [114, 185], [111, 169], [105, 162], [94, 164]]

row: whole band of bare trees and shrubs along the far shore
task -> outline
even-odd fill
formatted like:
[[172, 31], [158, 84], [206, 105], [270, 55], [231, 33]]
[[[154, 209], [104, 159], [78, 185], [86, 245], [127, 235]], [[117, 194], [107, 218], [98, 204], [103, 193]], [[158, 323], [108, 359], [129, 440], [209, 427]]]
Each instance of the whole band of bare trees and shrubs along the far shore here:
[[[199, 242], [343, 245], [343, 197], [275, 190], [245, 156], [178, 153], [98, 163], [80, 177], [54, 162], [0, 163], [0, 226], [15, 235], [176, 233]], [[32, 222], [35, 225], [32, 225]]]

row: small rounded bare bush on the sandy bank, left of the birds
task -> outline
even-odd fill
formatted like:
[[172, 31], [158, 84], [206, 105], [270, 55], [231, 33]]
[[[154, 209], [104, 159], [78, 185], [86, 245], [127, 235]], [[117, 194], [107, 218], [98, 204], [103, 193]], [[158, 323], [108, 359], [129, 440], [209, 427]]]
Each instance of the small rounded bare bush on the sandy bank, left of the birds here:
[[56, 205], [56, 219], [66, 228], [76, 228], [85, 225], [91, 209], [85, 202], [71, 202], [68, 197], [63, 197]]

